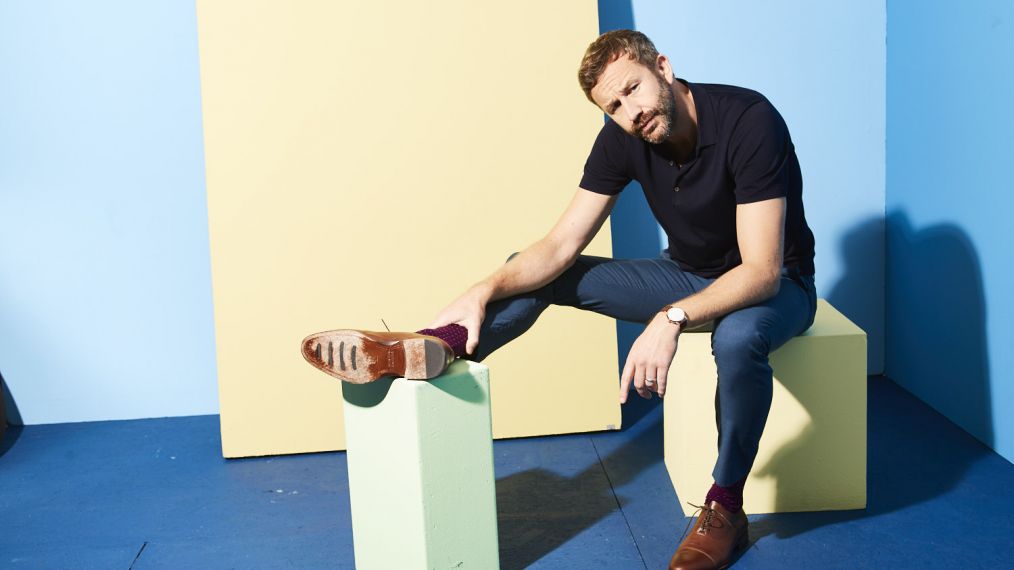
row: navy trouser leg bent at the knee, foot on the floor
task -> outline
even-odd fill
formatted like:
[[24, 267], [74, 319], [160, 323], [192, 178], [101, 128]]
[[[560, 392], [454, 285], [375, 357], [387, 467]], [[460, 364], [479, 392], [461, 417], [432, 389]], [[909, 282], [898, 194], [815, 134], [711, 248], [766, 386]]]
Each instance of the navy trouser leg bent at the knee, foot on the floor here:
[[731, 312], [716, 324], [712, 352], [718, 366], [715, 415], [719, 435], [712, 475], [717, 485], [738, 484], [741, 491], [771, 409], [768, 355], [808, 329], [815, 311], [813, 278], [791, 279], [783, 273], [778, 295]]

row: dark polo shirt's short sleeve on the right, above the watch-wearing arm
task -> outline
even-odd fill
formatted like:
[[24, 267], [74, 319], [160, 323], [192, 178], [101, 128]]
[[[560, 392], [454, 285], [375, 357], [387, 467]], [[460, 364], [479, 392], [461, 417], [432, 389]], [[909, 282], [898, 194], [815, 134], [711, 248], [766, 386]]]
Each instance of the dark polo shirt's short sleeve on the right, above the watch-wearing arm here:
[[743, 112], [729, 144], [736, 204], [787, 197], [794, 152], [789, 129], [771, 102], [764, 99]]

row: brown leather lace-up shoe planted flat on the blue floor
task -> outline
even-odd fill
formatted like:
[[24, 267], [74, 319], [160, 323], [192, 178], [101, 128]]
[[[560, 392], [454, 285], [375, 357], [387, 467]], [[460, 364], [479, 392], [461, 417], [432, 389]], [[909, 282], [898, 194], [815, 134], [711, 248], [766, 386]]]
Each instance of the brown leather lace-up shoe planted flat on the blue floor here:
[[694, 529], [669, 561], [669, 570], [728, 568], [749, 545], [746, 513], [729, 512], [718, 501], [701, 509]]

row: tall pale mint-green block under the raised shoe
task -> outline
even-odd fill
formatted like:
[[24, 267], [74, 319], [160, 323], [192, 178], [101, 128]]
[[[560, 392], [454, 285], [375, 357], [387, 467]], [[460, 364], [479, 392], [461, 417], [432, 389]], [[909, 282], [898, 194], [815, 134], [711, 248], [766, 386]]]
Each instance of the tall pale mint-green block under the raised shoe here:
[[499, 566], [489, 368], [346, 384], [356, 567]]

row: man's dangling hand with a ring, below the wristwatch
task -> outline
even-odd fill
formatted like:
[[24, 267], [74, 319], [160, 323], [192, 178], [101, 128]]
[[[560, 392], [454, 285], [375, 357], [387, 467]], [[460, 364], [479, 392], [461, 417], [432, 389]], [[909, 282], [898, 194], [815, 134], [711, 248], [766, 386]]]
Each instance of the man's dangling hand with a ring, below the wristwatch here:
[[679, 326], [670, 323], [664, 313], [659, 312], [651, 319], [627, 355], [624, 373], [620, 375], [621, 404], [627, 403], [631, 382], [641, 398], [651, 400], [653, 391], [659, 398], [665, 397], [665, 381], [676, 355], [678, 338]]

